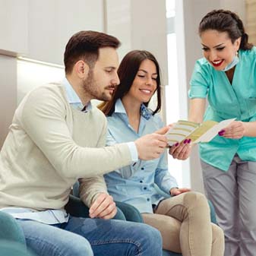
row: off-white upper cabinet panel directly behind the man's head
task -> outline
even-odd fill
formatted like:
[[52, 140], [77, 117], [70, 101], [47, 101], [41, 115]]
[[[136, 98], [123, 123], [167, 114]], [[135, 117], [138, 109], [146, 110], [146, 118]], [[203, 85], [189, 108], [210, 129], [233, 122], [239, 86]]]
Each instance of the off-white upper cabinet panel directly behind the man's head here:
[[63, 65], [68, 39], [104, 29], [103, 0], [29, 0], [28, 58]]

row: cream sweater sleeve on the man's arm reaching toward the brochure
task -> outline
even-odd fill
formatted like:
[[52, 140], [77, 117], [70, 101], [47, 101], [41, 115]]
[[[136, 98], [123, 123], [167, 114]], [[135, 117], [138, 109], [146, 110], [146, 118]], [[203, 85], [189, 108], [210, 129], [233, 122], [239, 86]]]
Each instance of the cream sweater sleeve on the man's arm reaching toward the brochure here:
[[49, 87], [27, 96], [20, 122], [56, 172], [65, 178], [103, 175], [131, 163], [127, 144], [112, 147], [81, 147], [71, 137], [66, 123], [65, 99]]

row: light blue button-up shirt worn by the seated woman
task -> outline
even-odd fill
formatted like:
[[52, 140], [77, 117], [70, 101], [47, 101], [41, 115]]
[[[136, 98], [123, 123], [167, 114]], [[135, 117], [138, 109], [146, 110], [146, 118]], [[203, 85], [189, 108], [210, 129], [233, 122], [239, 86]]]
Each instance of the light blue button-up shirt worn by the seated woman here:
[[[134, 131], [121, 100], [117, 100], [115, 112], [107, 119], [107, 145], [135, 141], [163, 127], [160, 116], [152, 115], [150, 109], [141, 105], [139, 129], [138, 132]], [[152, 204], [158, 204], [164, 198], [164, 193], [170, 196], [170, 189], [178, 187], [175, 178], [169, 173], [166, 154], [156, 160], [139, 160], [131, 166], [109, 172], [104, 177], [109, 194], [115, 201], [132, 204], [141, 213], [153, 213]]]

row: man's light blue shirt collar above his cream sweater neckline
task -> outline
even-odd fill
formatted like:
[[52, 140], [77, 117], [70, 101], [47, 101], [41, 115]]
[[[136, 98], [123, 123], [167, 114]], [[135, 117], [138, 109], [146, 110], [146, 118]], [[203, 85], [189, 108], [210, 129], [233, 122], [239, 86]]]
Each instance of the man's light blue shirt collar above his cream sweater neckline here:
[[[92, 109], [91, 103], [89, 102], [86, 108], [83, 106], [80, 98], [78, 97], [77, 93], [74, 91], [73, 87], [71, 84], [68, 82], [68, 79], [65, 77], [62, 81], [62, 84], [65, 87], [66, 93], [67, 93], [67, 98], [68, 98], [68, 103], [71, 104], [75, 109], [81, 110], [81, 111], [90, 111]], [[84, 109], [84, 110], [82, 110]]]

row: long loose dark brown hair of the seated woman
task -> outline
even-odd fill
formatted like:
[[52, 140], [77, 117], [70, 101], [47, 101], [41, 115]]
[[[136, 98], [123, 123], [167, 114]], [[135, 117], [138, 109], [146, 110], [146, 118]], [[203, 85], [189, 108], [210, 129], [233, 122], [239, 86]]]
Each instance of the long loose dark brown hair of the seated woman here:
[[[152, 53], [147, 51], [141, 50], [134, 50], [128, 52], [125, 57], [122, 59], [122, 62], [119, 65], [118, 74], [120, 79], [120, 84], [115, 90], [115, 94], [112, 100], [102, 103], [99, 106], [99, 109], [104, 112], [105, 115], [112, 115], [115, 111], [115, 102], [118, 99], [122, 99], [126, 93], [131, 88], [131, 85], [134, 81], [134, 78], [137, 74], [138, 69], [141, 66], [141, 62], [145, 59], [149, 59], [156, 65], [156, 93], [157, 93], [157, 106], [156, 109], [153, 111], [153, 115], [160, 111], [161, 109], [161, 79], [160, 79], [160, 66], [156, 61], [156, 58], [153, 56]], [[148, 106], [148, 103], [144, 103], [145, 106]]]

